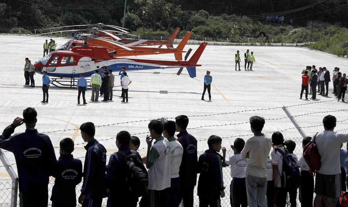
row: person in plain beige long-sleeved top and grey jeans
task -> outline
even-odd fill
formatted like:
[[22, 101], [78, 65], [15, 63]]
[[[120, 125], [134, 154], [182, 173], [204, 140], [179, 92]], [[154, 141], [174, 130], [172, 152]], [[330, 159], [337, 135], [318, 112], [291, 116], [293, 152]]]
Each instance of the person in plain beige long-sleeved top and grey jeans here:
[[254, 136], [248, 139], [240, 153], [243, 159], [249, 158], [246, 166], [246, 192], [249, 207], [267, 207], [267, 158], [272, 146], [268, 135], [262, 134], [264, 118], [250, 117], [250, 127]]

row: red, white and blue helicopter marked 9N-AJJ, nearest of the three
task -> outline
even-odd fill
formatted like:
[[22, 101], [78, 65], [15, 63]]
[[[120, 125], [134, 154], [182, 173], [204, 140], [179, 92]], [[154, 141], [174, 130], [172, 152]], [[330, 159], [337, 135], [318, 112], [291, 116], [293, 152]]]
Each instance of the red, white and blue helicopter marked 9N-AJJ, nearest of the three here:
[[[85, 76], [91, 76], [96, 69], [101, 71], [102, 66], [112, 71], [119, 71], [122, 66], [127, 68], [127, 71], [132, 70], [150, 70], [150, 69], [165, 69], [165, 68], [180, 68], [178, 75], [184, 67], [191, 78], [196, 77], [197, 62], [203, 53], [207, 42], [201, 43], [196, 52], [187, 61], [187, 58], [192, 49], [189, 49], [185, 55], [185, 61], [157, 61], [147, 59], [132, 59], [132, 58], [116, 58], [113, 57], [114, 52], [109, 52], [106, 47], [73, 47], [70, 51], [56, 50], [52, 51], [45, 57], [34, 63], [34, 67], [38, 73], [47, 71], [47, 75], [52, 78], [52, 84], [61, 87], [74, 87], [76, 78], [80, 77], [80, 73], [85, 73]], [[68, 82], [70, 84], [65, 84]]]

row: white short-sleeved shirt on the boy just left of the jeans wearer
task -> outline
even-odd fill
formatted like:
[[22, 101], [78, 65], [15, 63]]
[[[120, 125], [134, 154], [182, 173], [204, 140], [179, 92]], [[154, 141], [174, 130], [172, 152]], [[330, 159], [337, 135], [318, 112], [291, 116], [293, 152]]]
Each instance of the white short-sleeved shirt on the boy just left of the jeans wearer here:
[[247, 164], [246, 159], [242, 159], [240, 154], [234, 154], [229, 160], [225, 161], [231, 167], [231, 177], [244, 178], [246, 177], [245, 168]]

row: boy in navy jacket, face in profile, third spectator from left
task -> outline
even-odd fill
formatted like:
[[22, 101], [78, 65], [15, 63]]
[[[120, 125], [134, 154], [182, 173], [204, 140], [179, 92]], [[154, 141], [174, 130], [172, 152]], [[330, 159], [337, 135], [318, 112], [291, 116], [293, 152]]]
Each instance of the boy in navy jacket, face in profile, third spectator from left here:
[[82, 207], [101, 207], [106, 197], [106, 149], [95, 140], [95, 127], [92, 122], [80, 126], [81, 136], [88, 144], [85, 146], [84, 183], [79, 204]]

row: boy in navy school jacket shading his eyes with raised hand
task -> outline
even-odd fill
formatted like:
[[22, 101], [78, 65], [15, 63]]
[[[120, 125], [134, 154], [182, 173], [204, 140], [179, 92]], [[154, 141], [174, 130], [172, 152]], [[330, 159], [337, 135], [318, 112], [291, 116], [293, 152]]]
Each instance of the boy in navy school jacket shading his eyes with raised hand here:
[[[35, 129], [37, 112], [34, 108], [23, 111], [23, 119], [15, 118], [0, 135], [0, 148], [13, 152], [19, 182], [19, 204], [24, 207], [47, 207], [48, 181], [53, 175], [57, 159], [47, 135]], [[25, 123], [24, 133], [14, 133]]]

